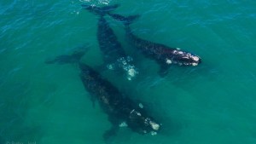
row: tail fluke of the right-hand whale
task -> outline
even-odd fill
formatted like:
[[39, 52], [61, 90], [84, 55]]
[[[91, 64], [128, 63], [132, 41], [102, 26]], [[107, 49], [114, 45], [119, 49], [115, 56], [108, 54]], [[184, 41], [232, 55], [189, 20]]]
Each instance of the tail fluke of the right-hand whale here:
[[123, 22], [123, 24], [125, 26], [130, 26], [131, 23], [134, 21], [134, 20], [137, 20], [137, 18], [140, 17], [139, 14], [136, 14], [136, 15], [130, 15], [130, 16], [123, 16], [123, 15], [120, 15], [120, 14], [111, 14], [111, 13], [108, 13], [108, 15], [110, 15], [113, 19], [115, 20], [119, 20], [121, 22]]

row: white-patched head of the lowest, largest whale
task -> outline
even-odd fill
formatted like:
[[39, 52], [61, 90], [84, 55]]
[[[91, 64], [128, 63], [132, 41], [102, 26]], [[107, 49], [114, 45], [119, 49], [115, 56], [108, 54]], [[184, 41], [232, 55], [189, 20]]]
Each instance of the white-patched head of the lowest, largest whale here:
[[132, 110], [128, 120], [128, 125], [131, 130], [136, 131], [139, 134], [151, 134], [156, 135], [160, 130], [161, 124], [157, 123], [154, 118], [150, 118], [147, 114]]

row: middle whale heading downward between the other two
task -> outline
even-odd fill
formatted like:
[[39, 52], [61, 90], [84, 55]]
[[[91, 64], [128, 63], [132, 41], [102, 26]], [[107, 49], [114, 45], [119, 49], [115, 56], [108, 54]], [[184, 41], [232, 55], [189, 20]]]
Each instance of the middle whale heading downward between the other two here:
[[125, 50], [119, 43], [108, 21], [104, 18], [113, 9], [119, 7], [119, 4], [105, 6], [102, 8], [82, 4], [82, 8], [90, 13], [99, 16], [97, 24], [97, 40], [102, 51], [104, 66], [110, 70], [115, 70], [125, 74], [128, 80], [135, 78], [138, 74], [137, 67], [134, 65], [133, 58], [125, 54]]

